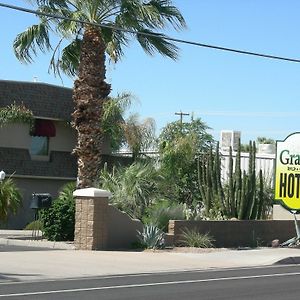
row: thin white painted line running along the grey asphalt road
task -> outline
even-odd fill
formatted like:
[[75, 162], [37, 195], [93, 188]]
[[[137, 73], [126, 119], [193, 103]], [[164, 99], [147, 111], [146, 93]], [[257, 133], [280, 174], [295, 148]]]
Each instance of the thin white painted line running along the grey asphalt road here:
[[202, 283], [202, 282], [227, 281], [227, 280], [228, 281], [229, 280], [244, 280], [244, 279], [254, 279], [254, 278], [285, 277], [285, 276], [298, 276], [298, 275], [300, 275], [300, 272], [276, 273], [276, 274], [252, 275], [252, 276], [208, 278], [208, 279], [197, 279], [197, 280], [166, 281], [166, 282], [153, 282], [153, 283], [141, 283], [141, 284], [102, 286], [102, 287], [94, 287], [94, 288], [78, 288], [78, 289], [65, 289], [65, 290], [53, 290], [53, 291], [42, 291], [42, 292], [0, 294], [0, 297], [5, 298], [5, 297], [19, 297], [19, 296], [36, 296], [36, 295], [49, 295], [49, 294], [61, 294], [61, 293], [114, 290], [114, 289], [126, 289], [126, 288], [136, 288], [136, 287], [164, 286], [164, 285]]

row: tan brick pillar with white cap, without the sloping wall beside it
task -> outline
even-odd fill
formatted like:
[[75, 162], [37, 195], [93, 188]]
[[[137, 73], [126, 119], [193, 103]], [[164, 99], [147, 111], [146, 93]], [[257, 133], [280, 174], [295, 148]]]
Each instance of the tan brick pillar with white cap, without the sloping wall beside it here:
[[75, 248], [104, 250], [107, 247], [108, 191], [87, 188], [73, 193], [76, 202]]

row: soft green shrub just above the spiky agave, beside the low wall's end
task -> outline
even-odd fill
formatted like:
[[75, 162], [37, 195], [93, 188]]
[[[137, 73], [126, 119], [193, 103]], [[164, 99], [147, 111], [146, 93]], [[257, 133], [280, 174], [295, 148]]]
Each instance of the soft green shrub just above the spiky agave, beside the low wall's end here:
[[187, 208], [185, 204], [161, 200], [146, 210], [146, 216], [143, 218], [143, 221], [167, 232], [170, 220], [185, 220], [186, 215]]

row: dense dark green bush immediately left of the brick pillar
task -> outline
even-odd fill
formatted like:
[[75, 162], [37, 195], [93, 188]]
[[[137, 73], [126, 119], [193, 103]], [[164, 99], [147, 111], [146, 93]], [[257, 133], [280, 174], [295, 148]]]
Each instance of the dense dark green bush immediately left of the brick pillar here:
[[43, 235], [50, 241], [73, 241], [75, 228], [75, 183], [66, 184], [49, 209], [41, 211]]

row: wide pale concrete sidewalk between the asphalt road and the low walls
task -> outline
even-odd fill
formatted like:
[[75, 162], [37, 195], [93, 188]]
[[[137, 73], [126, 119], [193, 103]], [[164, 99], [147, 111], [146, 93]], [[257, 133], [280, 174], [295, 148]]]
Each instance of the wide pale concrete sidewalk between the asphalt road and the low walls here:
[[[25, 235], [25, 234], [24, 234]], [[5, 238], [0, 230], [0, 244], [28, 240]], [[7, 237], [7, 235], [6, 235]], [[23, 236], [24, 237], [24, 236]], [[6, 280], [45, 280], [152, 272], [173, 272], [210, 268], [266, 266], [281, 262], [300, 263], [300, 249], [260, 248], [254, 250], [217, 249], [211, 252], [168, 251], [79, 251], [57, 250], [57, 243], [31, 241], [52, 251], [0, 252], [0, 275]], [[65, 243], [61, 243], [60, 246]], [[11, 244], [12, 245], [12, 244]], [[20, 245], [20, 244], [19, 244]], [[67, 246], [66, 246], [67, 245]], [[73, 245], [65, 244], [65, 247]], [[60, 248], [62, 249], [62, 248]], [[65, 248], [66, 249], [66, 248]], [[1, 278], [0, 276], [0, 278]]]

